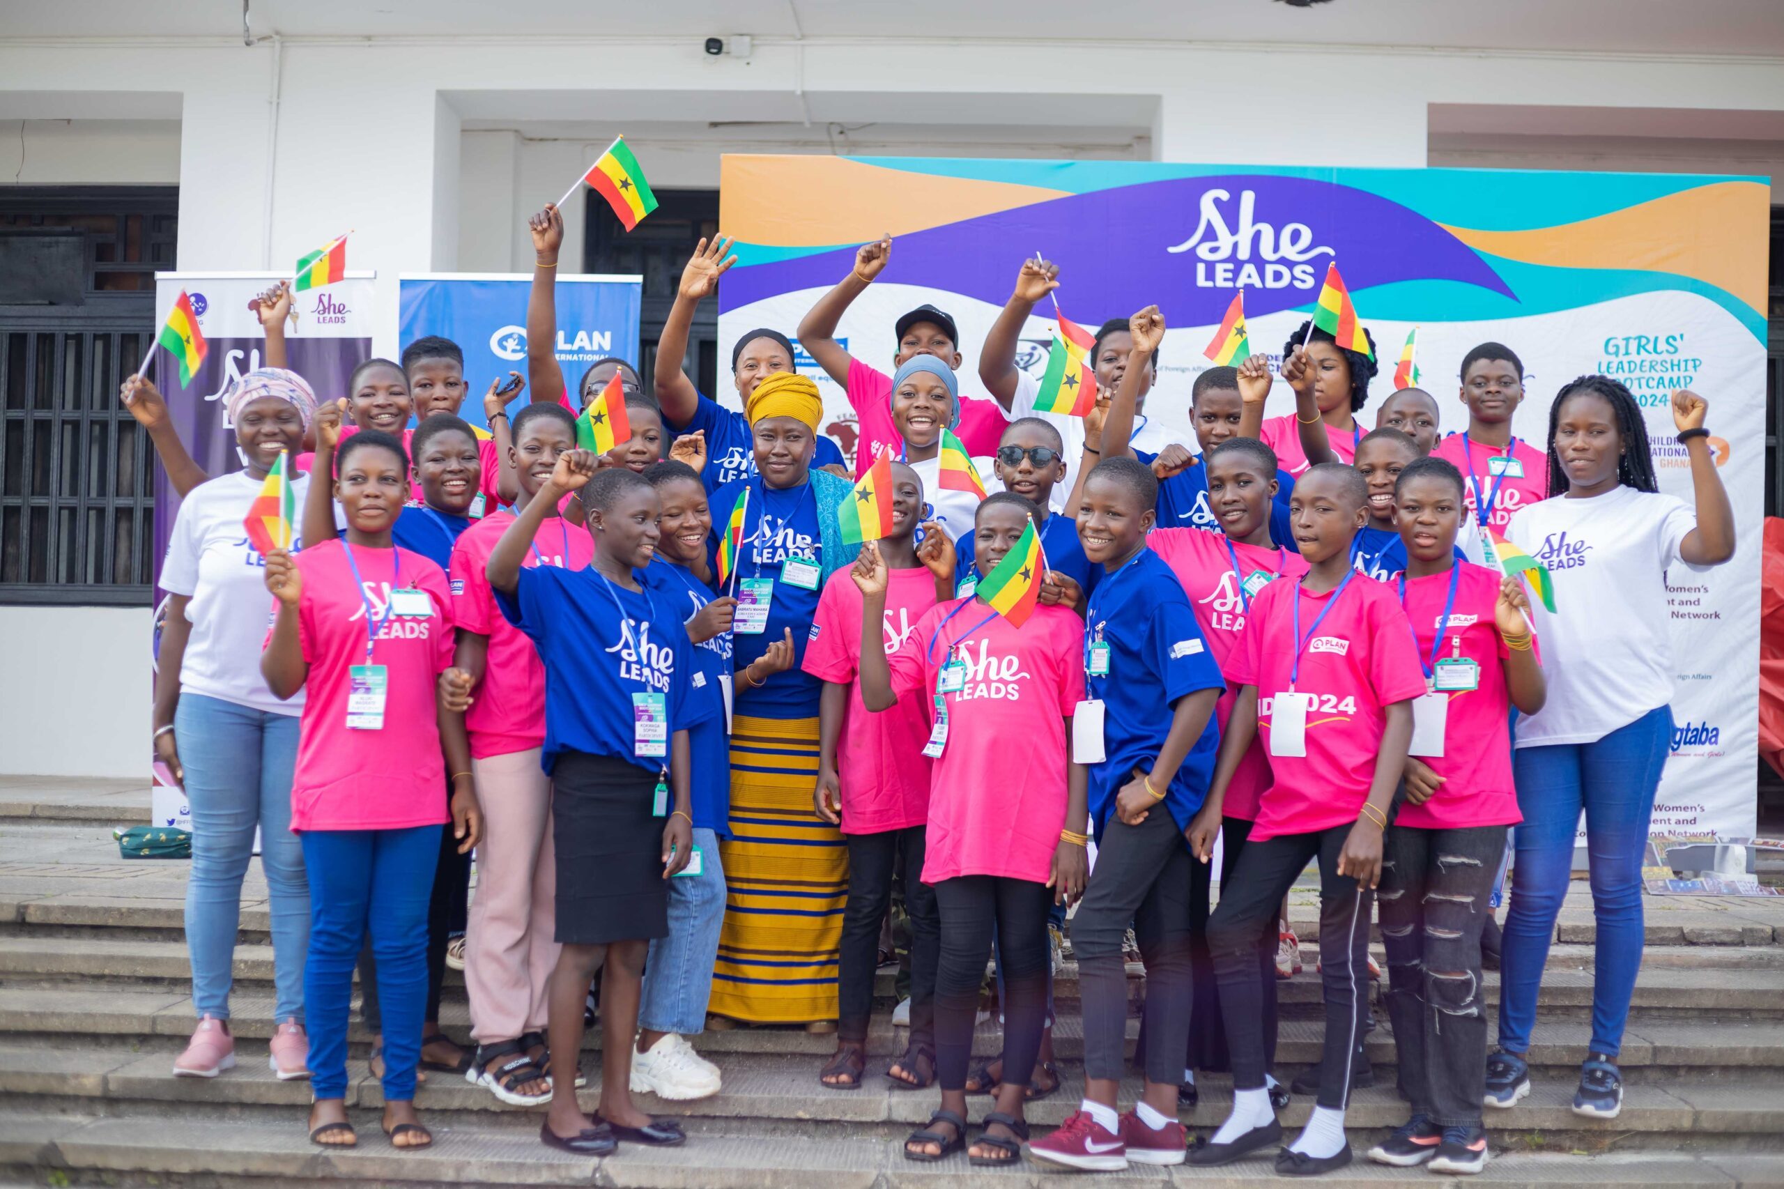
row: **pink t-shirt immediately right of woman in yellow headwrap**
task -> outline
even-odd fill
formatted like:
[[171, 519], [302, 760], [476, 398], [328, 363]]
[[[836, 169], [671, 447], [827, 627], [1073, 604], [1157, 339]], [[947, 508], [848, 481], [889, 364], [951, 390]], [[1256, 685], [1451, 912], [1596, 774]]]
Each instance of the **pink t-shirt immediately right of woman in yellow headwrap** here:
[[[924, 566], [888, 571], [885, 648], [892, 655], [935, 607], [935, 575]], [[837, 739], [842, 832], [880, 834], [929, 819], [929, 716], [919, 698], [874, 714], [862, 705], [862, 591], [847, 570], [830, 575], [812, 619], [805, 671], [849, 687]]]

